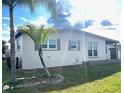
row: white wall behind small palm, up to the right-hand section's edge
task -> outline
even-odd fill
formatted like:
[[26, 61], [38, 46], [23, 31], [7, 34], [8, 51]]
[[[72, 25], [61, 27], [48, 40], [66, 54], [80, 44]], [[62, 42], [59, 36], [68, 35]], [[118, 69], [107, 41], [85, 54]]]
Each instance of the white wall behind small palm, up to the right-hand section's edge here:
[[[77, 34], [77, 35], [76, 35]], [[38, 51], [35, 50], [34, 42], [27, 35], [23, 35], [23, 69], [41, 68]], [[49, 39], [60, 39], [60, 50], [43, 51], [43, 58], [47, 67], [81, 64], [83, 60], [83, 48], [80, 51], [68, 50], [69, 40], [80, 40], [83, 45], [82, 35], [79, 33], [60, 32], [54, 33]]]

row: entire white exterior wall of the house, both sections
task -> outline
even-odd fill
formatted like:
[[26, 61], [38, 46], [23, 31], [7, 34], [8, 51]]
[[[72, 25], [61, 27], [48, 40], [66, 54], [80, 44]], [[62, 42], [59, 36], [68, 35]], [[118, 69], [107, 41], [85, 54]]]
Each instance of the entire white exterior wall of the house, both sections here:
[[[34, 42], [27, 35], [22, 35], [22, 69], [36, 69], [41, 68], [42, 64], [40, 63], [40, 58], [38, 56], [38, 51], [35, 50]], [[92, 61], [92, 60], [105, 60], [105, 40], [90, 36], [84, 35], [84, 33], [79, 31], [62, 31], [52, 34], [49, 39], [60, 39], [60, 50], [54, 51], [43, 51], [43, 58], [47, 67], [56, 67], [56, 66], [66, 66], [66, 65], [75, 65], [82, 64], [83, 61]], [[80, 40], [80, 50], [69, 50], [68, 43], [69, 40]], [[98, 56], [97, 57], [88, 57], [88, 42], [97, 42], [98, 43]], [[18, 51], [17, 51], [18, 52]], [[19, 53], [17, 53], [19, 56]]]

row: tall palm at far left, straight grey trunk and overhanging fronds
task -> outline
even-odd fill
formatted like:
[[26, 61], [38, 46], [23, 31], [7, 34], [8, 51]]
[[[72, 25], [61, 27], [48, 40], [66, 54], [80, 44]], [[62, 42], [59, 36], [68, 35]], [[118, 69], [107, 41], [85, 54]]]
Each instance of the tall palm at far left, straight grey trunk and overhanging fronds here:
[[34, 11], [35, 5], [41, 2], [48, 10], [51, 11], [52, 16], [56, 15], [56, 2], [55, 0], [2, 0], [2, 4], [9, 7], [10, 17], [10, 48], [11, 48], [11, 81], [12, 83], [17, 82], [16, 80], [16, 62], [15, 62], [15, 30], [13, 21], [13, 11], [17, 5], [27, 5], [30, 7], [31, 12]]

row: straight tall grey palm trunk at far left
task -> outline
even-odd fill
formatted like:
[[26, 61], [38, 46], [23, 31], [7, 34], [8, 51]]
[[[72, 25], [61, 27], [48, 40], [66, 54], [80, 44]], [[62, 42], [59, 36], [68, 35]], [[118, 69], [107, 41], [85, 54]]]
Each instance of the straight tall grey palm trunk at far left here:
[[17, 82], [16, 80], [16, 62], [15, 62], [15, 34], [14, 34], [14, 23], [13, 23], [13, 1], [10, 0], [9, 6], [10, 13], [10, 48], [11, 48], [11, 81], [12, 83]]

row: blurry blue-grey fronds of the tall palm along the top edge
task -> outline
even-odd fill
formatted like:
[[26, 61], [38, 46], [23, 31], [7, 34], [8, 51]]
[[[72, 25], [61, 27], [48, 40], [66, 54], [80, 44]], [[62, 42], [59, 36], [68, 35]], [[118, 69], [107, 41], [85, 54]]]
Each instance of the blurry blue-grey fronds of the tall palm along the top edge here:
[[[2, 0], [2, 4], [9, 6], [10, 0]], [[36, 6], [44, 6], [51, 14], [51, 17], [57, 17], [57, 3], [56, 0], [13, 0], [13, 6], [28, 6], [31, 13], [35, 11]]]

